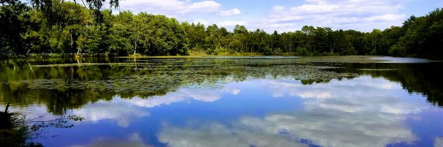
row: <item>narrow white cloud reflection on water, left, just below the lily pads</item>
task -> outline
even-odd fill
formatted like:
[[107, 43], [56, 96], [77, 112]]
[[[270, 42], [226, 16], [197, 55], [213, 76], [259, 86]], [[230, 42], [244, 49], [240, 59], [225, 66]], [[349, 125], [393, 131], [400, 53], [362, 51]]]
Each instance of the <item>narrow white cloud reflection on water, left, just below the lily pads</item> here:
[[[154, 96], [148, 99], [142, 99], [140, 97], [122, 99], [119, 96], [115, 96], [111, 102], [99, 101], [94, 104], [88, 104], [82, 109], [73, 110], [72, 114], [82, 116], [86, 121], [91, 121], [92, 123], [98, 123], [101, 120], [113, 120], [116, 121], [120, 127], [129, 127], [132, 117], [150, 116], [150, 113], [143, 110], [143, 108], [153, 108], [155, 106], [191, 100], [215, 102], [221, 99], [221, 94], [223, 93], [235, 95], [240, 93], [240, 89], [230, 85], [224, 85], [224, 87], [219, 89], [180, 89], [176, 92], [169, 92], [164, 96]], [[40, 111], [46, 110], [41, 109]]]

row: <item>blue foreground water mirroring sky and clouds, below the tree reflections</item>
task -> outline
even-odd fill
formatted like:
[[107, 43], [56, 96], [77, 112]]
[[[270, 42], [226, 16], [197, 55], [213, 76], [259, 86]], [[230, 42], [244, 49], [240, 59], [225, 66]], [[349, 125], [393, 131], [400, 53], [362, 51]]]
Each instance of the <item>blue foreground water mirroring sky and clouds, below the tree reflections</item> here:
[[[87, 104], [45, 146], [440, 146], [443, 110], [399, 83], [361, 76], [302, 85], [258, 79]], [[432, 132], [432, 133], [430, 133]]]

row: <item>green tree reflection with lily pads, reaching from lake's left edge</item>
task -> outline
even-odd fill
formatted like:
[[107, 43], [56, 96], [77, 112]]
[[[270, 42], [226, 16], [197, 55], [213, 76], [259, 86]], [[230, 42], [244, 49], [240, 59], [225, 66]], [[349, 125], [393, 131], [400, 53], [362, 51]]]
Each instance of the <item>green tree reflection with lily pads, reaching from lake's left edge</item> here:
[[[352, 78], [353, 73], [325, 71], [334, 66], [294, 64], [293, 59], [150, 59], [108, 60], [105, 63], [61, 61], [42, 64], [30, 71], [27, 61], [1, 62], [0, 102], [27, 106], [46, 104], [51, 113], [63, 114], [88, 102], [120, 97], [153, 97], [180, 87], [217, 87], [250, 78], [296, 78], [306, 83], [327, 82], [333, 78]], [[95, 60], [93, 60], [95, 61]], [[60, 64], [73, 62], [72, 64]], [[39, 62], [32, 62], [39, 64]], [[95, 65], [99, 64], [99, 65]], [[51, 66], [45, 66], [51, 65]], [[66, 82], [68, 79], [69, 82]]]

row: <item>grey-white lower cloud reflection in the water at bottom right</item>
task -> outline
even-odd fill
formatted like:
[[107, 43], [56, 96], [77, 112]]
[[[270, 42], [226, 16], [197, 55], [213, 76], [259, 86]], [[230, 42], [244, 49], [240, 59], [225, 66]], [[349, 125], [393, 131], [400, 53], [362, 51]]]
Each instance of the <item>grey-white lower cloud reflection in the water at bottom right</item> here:
[[[321, 111], [321, 112], [320, 112]], [[281, 134], [309, 139], [319, 146], [386, 146], [390, 143], [416, 139], [405, 125], [404, 117], [386, 113], [330, 111], [317, 108], [300, 113], [274, 114], [265, 118], [245, 117], [240, 120], [252, 130], [263, 134]], [[383, 125], [381, 125], [383, 124]]]

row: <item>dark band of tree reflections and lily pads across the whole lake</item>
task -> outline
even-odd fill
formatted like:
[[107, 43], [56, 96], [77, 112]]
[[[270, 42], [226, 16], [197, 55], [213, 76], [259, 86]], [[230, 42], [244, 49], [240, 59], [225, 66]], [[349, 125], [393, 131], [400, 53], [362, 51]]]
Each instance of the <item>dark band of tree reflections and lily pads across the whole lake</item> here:
[[[314, 64], [294, 60], [86, 58], [80, 63], [65, 58], [9, 59], [0, 62], [0, 102], [44, 104], [49, 112], [63, 115], [68, 109], [111, 100], [115, 95], [149, 99], [181, 87], [218, 88], [248, 78], [294, 78], [307, 85], [364, 73], [402, 83], [409, 92], [420, 92], [429, 102], [443, 106], [442, 71], [429, 67], [435, 64]], [[41, 63], [46, 66], [36, 66]], [[338, 68], [341, 66], [345, 68]]]

